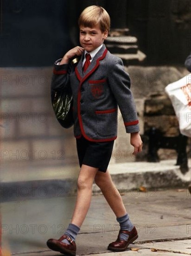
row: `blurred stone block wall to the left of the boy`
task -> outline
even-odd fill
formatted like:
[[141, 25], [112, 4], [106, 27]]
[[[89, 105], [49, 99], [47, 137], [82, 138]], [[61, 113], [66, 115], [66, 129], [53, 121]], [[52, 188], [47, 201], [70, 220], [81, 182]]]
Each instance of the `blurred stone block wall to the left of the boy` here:
[[60, 126], [51, 106], [51, 76], [52, 67], [0, 69], [3, 171], [77, 164], [72, 128]]

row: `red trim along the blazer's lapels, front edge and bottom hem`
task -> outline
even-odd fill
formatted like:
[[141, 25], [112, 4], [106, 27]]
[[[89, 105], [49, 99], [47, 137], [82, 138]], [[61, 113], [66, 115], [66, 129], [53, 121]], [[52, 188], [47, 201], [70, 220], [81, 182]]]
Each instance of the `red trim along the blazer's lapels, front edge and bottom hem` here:
[[94, 73], [96, 71], [97, 67], [99, 67], [99, 65], [100, 65], [99, 62], [102, 61], [105, 58], [107, 52], [108, 52], [108, 49], [106, 48], [105, 51], [103, 52], [102, 56], [97, 59], [95, 67], [92, 70], [90, 70], [90, 72], [88, 74], [86, 74], [83, 78], [81, 78], [81, 76], [80, 76], [80, 74], [79, 74], [79, 72], [77, 70], [77, 66], [75, 68], [75, 73], [76, 73], [77, 79], [80, 81], [80, 85], [79, 85], [79, 88], [78, 88], [78, 95], [77, 95], [77, 112], [78, 112], [77, 115], [78, 115], [78, 121], [79, 121], [79, 125], [80, 125], [80, 129], [81, 129], [82, 135], [88, 141], [94, 141], [94, 142], [114, 141], [117, 138], [117, 136], [115, 136], [113, 138], [109, 138], [109, 139], [98, 139], [98, 140], [89, 138], [89, 136], [87, 136], [85, 134], [85, 131], [83, 129], [82, 116], [80, 115], [80, 100], [81, 100], [81, 87], [82, 87], [82, 84], [92, 73]]

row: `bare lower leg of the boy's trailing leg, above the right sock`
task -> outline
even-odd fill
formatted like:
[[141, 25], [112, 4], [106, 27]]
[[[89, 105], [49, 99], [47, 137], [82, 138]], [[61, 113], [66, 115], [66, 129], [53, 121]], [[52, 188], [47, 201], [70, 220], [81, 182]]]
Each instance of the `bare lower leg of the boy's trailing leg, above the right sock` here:
[[121, 217], [126, 215], [127, 211], [123, 204], [121, 195], [116, 189], [108, 170], [106, 173], [98, 171], [95, 176], [95, 182], [96, 185], [102, 190], [102, 194], [115, 213], [115, 216]]

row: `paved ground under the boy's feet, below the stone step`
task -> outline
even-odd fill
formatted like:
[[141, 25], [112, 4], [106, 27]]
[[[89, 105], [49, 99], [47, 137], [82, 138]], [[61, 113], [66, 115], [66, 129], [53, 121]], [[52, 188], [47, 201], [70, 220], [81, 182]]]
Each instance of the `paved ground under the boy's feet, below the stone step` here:
[[[115, 191], [108, 191], [115, 193]], [[77, 236], [77, 255], [183, 256], [191, 255], [191, 195], [188, 189], [132, 189], [122, 193], [123, 202], [139, 238], [122, 253], [107, 250], [119, 226], [102, 194], [93, 193], [89, 213]], [[56, 256], [47, 239], [59, 238], [70, 222], [75, 196], [3, 202], [2, 245], [15, 256]], [[154, 249], [154, 251], [152, 251]]]

